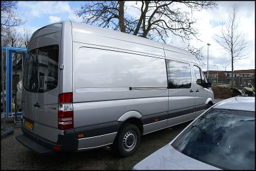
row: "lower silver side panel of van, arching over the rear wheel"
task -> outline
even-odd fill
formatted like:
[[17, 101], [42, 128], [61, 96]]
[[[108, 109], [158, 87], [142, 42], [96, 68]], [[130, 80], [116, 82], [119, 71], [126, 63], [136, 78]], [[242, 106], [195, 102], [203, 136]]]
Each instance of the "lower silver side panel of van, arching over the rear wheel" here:
[[168, 97], [151, 97], [113, 101], [77, 102], [74, 103], [74, 125], [75, 127], [84, 127], [114, 122], [131, 110], [138, 111], [142, 114], [142, 117], [160, 114], [167, 111], [167, 101]]

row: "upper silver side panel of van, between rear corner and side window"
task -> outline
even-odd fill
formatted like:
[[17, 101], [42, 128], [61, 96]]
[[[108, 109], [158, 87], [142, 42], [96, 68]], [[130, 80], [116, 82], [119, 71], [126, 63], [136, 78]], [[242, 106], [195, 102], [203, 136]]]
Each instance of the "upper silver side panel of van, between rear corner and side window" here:
[[74, 102], [167, 95], [165, 59], [74, 44]]

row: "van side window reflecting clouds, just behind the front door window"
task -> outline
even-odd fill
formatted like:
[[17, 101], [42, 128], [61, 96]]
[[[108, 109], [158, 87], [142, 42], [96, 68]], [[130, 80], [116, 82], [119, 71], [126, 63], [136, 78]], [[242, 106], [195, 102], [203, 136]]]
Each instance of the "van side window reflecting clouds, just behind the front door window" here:
[[189, 63], [166, 60], [169, 89], [188, 89], [191, 87]]

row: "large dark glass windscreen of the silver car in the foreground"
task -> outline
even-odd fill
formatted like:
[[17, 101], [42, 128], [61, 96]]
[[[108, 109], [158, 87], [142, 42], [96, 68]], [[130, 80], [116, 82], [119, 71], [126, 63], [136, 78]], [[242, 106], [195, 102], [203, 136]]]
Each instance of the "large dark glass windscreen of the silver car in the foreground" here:
[[171, 144], [184, 155], [221, 169], [255, 169], [255, 114], [211, 109]]

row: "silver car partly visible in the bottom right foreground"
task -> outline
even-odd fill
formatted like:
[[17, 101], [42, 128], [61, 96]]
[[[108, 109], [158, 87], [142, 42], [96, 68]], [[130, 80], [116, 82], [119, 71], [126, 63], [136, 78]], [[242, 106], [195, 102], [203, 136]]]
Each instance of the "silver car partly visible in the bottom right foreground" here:
[[218, 102], [133, 170], [255, 170], [255, 98]]

